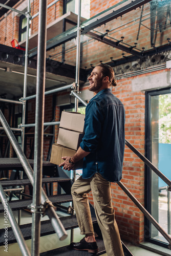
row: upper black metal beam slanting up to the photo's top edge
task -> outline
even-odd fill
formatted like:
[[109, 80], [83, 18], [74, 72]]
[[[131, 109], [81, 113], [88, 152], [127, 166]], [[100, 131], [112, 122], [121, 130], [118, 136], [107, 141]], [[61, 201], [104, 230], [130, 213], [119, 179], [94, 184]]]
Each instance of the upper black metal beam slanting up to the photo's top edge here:
[[[91, 24], [89, 24], [87, 26], [86, 26], [86, 22], [84, 23], [85, 27], [82, 29], [81, 34], [86, 34], [90, 30], [93, 30], [94, 28], [97, 28], [105, 23], [108, 23], [111, 20], [116, 19], [117, 17], [120, 17], [120, 16], [124, 15], [125, 13], [130, 12], [130, 11], [132, 11], [148, 2], [151, 2], [151, 1], [152, 0], [135, 0], [135, 1], [132, 1], [130, 4], [128, 4], [124, 7], [121, 7], [120, 9], [118, 9], [116, 11], [113, 11], [112, 13], [110, 13], [102, 18], [98, 19], [98, 16], [97, 16], [97, 19], [95, 22], [92, 22]], [[73, 38], [76, 38], [76, 36], [77, 36], [77, 31], [76, 31], [76, 27], [74, 27], [70, 30], [69, 34], [67, 34], [67, 32], [62, 33], [59, 36], [56, 36], [55, 40], [53, 38], [52, 39], [53, 41], [51, 43], [49, 41], [47, 43], [47, 51], [49, 51], [57, 46], [60, 46], [60, 45], [64, 44], [65, 42], [70, 41]], [[30, 51], [30, 55], [29, 55], [30, 57], [34, 57], [36, 55], [37, 55], [37, 49], [35, 49], [35, 50], [33, 49], [33, 52]]]

